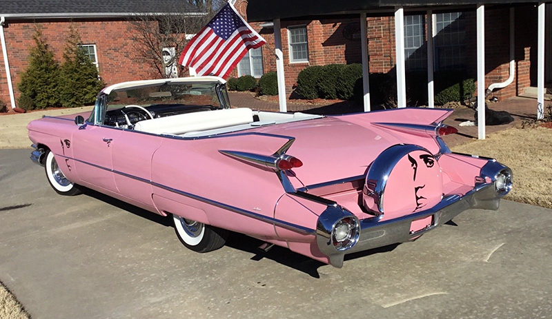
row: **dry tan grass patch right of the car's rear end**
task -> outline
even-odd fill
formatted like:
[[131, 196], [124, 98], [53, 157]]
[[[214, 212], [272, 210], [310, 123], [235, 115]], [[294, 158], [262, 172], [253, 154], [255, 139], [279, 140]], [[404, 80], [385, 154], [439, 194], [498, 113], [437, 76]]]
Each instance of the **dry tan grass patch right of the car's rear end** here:
[[506, 199], [552, 208], [552, 130], [511, 128], [483, 141], [452, 147], [454, 152], [497, 158], [513, 171], [513, 189]]

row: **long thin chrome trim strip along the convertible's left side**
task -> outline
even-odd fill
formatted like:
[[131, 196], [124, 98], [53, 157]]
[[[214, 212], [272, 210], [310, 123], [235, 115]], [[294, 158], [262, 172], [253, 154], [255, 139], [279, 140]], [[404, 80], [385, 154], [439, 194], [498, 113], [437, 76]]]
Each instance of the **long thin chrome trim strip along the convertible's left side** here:
[[126, 174], [124, 172], [119, 172], [116, 169], [110, 169], [110, 168], [107, 168], [107, 167], [102, 167], [102, 166], [99, 166], [99, 165], [95, 165], [93, 163], [88, 163], [86, 161], [81, 161], [77, 158], [71, 158], [71, 157], [68, 157], [68, 156], [64, 156], [62, 154], [56, 154], [56, 156], [59, 156], [59, 157], [62, 157], [62, 158], [68, 158], [70, 160], [77, 161], [79, 163], [83, 163], [83, 164], [86, 164], [86, 165], [90, 165], [92, 167], [97, 167], [99, 169], [103, 169], [103, 170], [108, 171], [108, 172], [119, 174], [121, 176], [125, 176], [125, 177], [128, 177], [128, 178], [132, 178], [136, 181], [140, 181], [140, 182], [143, 182], [143, 183], [148, 183], [152, 186], [159, 187], [161, 189], [165, 189], [168, 192], [172, 192], [172, 193], [175, 193], [175, 194], [179, 194], [181, 196], [186, 196], [188, 198], [199, 200], [202, 203], [207, 203], [209, 205], [213, 205], [213, 206], [216, 206], [216, 207], [219, 207], [219, 208], [222, 208], [222, 209], [229, 210], [230, 212], [235, 212], [237, 214], [242, 214], [244, 216], [255, 218], [257, 220], [264, 221], [265, 223], [272, 223], [273, 225], [277, 225], [277, 226], [280, 226], [280, 227], [284, 227], [286, 229], [297, 231], [297, 232], [302, 233], [302, 234], [310, 235], [310, 234], [315, 234], [315, 232], [316, 232], [315, 229], [310, 229], [310, 228], [307, 228], [307, 227], [303, 227], [301, 225], [288, 223], [285, 220], [279, 220], [277, 218], [273, 218], [273, 217], [270, 217], [270, 216], [264, 216], [262, 214], [257, 214], [255, 212], [250, 212], [246, 209], [242, 209], [242, 208], [239, 208], [239, 207], [235, 207], [235, 206], [232, 206], [232, 205], [228, 205], [228, 204], [218, 202], [217, 200], [212, 200], [212, 199], [209, 199], [209, 198], [206, 198], [206, 197], [203, 197], [203, 196], [199, 196], [199, 195], [195, 195], [195, 194], [191, 194], [191, 193], [188, 193], [188, 192], [181, 191], [180, 189], [175, 189], [175, 188], [163, 185], [163, 184], [155, 183], [155, 182], [150, 181], [146, 178], [141, 178], [141, 177], [138, 177], [138, 176]]

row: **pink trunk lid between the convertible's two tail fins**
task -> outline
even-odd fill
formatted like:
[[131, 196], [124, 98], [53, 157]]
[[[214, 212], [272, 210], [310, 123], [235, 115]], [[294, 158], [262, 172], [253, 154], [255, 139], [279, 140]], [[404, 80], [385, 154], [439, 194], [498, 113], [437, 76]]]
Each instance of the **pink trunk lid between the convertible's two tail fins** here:
[[396, 144], [416, 144], [433, 153], [438, 150], [428, 134], [396, 132], [368, 121], [359, 125], [346, 121], [347, 118], [336, 116], [273, 125], [259, 128], [257, 132], [295, 137], [286, 154], [303, 162], [293, 172], [304, 185], [364, 175], [378, 155]]

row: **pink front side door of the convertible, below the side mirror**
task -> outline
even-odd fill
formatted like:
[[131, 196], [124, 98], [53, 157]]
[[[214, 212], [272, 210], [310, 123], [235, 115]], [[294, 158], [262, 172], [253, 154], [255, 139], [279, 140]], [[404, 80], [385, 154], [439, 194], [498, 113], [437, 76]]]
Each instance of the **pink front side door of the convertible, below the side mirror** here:
[[84, 186], [117, 193], [111, 154], [122, 130], [83, 125], [72, 136], [77, 175]]

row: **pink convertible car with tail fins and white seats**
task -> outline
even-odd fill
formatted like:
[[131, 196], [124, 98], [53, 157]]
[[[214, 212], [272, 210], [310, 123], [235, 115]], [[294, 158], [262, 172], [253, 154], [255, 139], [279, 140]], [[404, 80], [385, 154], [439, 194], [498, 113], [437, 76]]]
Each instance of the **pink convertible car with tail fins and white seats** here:
[[466, 209], [497, 209], [510, 191], [511, 169], [443, 143], [451, 112], [232, 108], [223, 79], [199, 76], [111, 85], [88, 119], [44, 116], [28, 130], [59, 194], [84, 186], [170, 215], [194, 251], [237, 231], [342, 267]]

